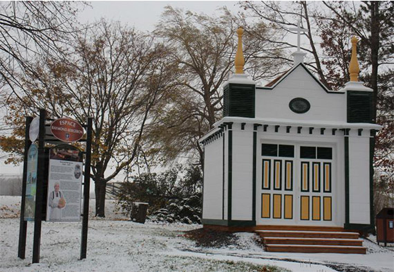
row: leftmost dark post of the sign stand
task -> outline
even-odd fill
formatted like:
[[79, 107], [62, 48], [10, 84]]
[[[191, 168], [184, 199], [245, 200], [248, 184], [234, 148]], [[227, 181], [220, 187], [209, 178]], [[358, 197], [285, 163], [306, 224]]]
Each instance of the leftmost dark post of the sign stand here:
[[26, 180], [28, 172], [28, 151], [31, 145], [29, 140], [30, 123], [32, 123], [32, 117], [26, 117], [25, 127], [25, 152], [24, 152], [24, 176], [22, 178], [22, 200], [21, 200], [21, 220], [19, 223], [19, 244], [18, 244], [18, 257], [21, 259], [25, 258], [26, 254], [26, 231], [28, 229], [28, 222], [25, 221], [25, 205], [26, 205]]

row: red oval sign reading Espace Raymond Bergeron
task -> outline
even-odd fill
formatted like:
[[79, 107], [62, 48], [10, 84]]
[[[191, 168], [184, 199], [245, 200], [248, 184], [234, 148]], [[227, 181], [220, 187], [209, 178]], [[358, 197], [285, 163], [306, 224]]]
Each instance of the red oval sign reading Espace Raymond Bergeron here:
[[70, 118], [60, 118], [50, 125], [53, 136], [66, 143], [73, 143], [84, 136], [84, 128]]

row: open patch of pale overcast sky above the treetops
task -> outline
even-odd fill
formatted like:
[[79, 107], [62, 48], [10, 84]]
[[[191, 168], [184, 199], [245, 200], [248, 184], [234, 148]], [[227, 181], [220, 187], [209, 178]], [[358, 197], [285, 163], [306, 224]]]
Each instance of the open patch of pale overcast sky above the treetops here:
[[92, 23], [104, 17], [127, 23], [138, 30], [151, 31], [165, 6], [204, 12], [207, 15], [213, 15], [215, 10], [223, 6], [234, 13], [241, 10], [238, 1], [93, 1], [91, 7], [86, 7], [80, 13], [79, 19]]

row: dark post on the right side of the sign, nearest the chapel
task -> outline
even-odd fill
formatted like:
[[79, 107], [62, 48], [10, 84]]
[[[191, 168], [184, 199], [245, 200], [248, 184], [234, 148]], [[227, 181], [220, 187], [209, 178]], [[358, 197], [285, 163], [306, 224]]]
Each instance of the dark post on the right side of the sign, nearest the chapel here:
[[88, 244], [88, 219], [89, 219], [89, 197], [91, 188], [91, 149], [92, 149], [92, 125], [93, 118], [88, 117], [87, 139], [85, 148], [85, 174], [84, 174], [84, 212], [82, 217], [81, 237], [81, 260], [86, 259], [86, 247]]

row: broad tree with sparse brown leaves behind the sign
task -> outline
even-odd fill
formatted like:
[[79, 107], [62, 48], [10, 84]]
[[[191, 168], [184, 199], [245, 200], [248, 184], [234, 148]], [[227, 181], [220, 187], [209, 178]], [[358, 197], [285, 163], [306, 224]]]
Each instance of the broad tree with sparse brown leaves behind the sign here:
[[[39, 107], [54, 118], [84, 122], [92, 116], [91, 177], [96, 215], [104, 217], [106, 183], [135, 163], [151, 109], [171, 87], [172, 64], [152, 37], [105, 21], [78, 35], [74, 50], [67, 59], [43, 57], [35, 63], [35, 73], [22, 83], [29, 95], [9, 99], [6, 122], [12, 125]], [[1, 147], [12, 140], [3, 137]]]

